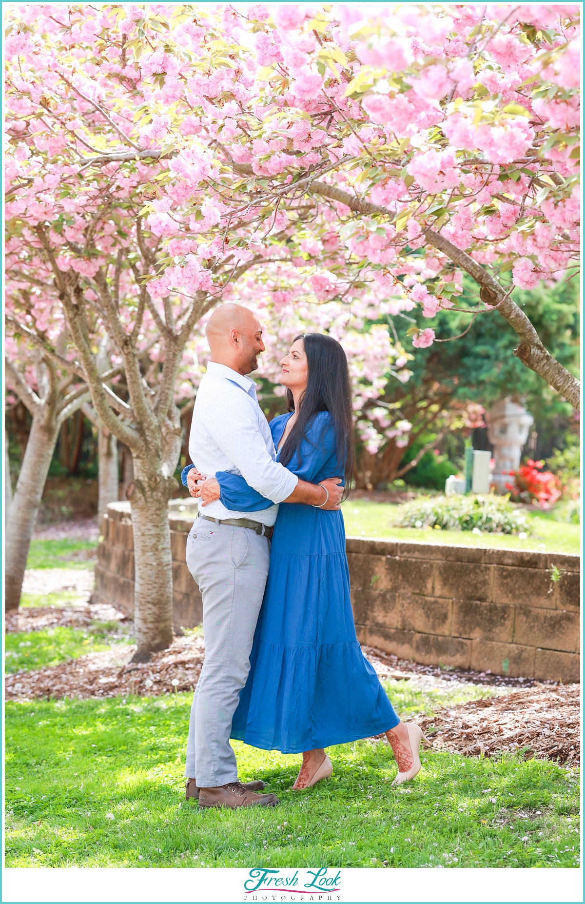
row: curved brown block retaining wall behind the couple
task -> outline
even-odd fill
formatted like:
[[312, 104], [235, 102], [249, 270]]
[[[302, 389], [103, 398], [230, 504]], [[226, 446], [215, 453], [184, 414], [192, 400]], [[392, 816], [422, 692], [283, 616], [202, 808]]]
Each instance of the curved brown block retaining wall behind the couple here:
[[[169, 505], [175, 628], [201, 621], [185, 564], [194, 501]], [[348, 538], [357, 636], [425, 664], [511, 676], [580, 680], [580, 558], [432, 543]], [[553, 567], [560, 579], [553, 581]], [[96, 598], [131, 614], [134, 552], [129, 503], [108, 506]]]

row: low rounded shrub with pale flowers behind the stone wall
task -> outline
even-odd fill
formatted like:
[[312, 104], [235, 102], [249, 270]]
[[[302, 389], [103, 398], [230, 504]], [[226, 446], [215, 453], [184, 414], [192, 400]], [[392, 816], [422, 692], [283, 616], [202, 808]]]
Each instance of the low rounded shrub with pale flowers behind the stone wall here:
[[434, 496], [401, 505], [395, 527], [436, 527], [441, 531], [530, 533], [523, 512], [509, 496]]

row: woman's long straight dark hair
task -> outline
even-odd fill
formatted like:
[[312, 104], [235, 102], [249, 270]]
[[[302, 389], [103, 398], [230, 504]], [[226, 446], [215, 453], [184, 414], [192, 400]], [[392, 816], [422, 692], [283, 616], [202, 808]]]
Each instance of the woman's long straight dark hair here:
[[[307, 355], [307, 388], [302, 393], [296, 422], [283, 445], [280, 461], [288, 465], [303, 439], [311, 420], [319, 411], [329, 411], [337, 438], [337, 452], [341, 460], [345, 457], [346, 488], [348, 495], [354, 470], [354, 427], [353, 406], [351, 404], [351, 381], [349, 380], [348, 359], [337, 339], [320, 333], [302, 333], [295, 337], [302, 339]], [[287, 389], [288, 410], [294, 411], [292, 392]], [[339, 475], [341, 476], [341, 475]]]

